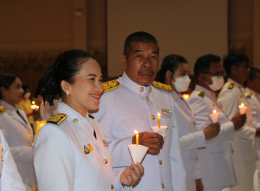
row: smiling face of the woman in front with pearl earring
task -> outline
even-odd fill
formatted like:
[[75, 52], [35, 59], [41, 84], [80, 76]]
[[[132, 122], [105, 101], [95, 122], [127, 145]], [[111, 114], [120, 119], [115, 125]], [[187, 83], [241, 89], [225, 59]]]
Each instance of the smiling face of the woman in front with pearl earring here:
[[86, 111], [98, 109], [104, 90], [99, 63], [89, 59], [81, 65], [81, 70], [74, 78], [75, 82], [69, 84], [70, 94], [64, 95], [66, 104], [81, 115], [86, 115]]

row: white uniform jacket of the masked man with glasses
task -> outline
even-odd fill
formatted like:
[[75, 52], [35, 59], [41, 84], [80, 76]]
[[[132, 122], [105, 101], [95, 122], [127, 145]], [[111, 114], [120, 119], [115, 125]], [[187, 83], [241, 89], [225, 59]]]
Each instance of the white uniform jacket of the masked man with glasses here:
[[[205, 95], [199, 95], [204, 91]], [[234, 134], [234, 124], [227, 119], [222, 108], [217, 103], [215, 93], [196, 85], [188, 102], [196, 114], [196, 129], [203, 130], [212, 123], [209, 114], [216, 110], [220, 113], [220, 133], [207, 141], [206, 148], [198, 150], [198, 161], [202, 171], [205, 188], [235, 185], [236, 177], [232, 159], [231, 139]]]

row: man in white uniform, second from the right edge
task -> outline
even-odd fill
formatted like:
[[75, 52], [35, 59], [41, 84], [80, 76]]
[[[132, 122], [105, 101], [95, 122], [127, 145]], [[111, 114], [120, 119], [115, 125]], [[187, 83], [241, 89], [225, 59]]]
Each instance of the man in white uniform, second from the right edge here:
[[233, 139], [234, 164], [237, 175], [235, 190], [252, 190], [252, 177], [255, 172], [255, 133], [252, 126], [252, 115], [248, 101], [244, 96], [244, 82], [248, 80], [248, 57], [232, 53], [224, 58], [224, 70], [229, 77], [222, 87], [218, 102], [223, 106], [229, 119], [239, 112], [239, 105], [247, 106], [246, 123], [235, 132]]

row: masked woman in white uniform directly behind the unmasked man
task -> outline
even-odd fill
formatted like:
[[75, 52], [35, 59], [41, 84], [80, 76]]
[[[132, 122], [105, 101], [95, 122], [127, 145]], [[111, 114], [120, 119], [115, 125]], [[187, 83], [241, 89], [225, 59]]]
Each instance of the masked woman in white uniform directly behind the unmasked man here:
[[[181, 156], [185, 165], [187, 190], [203, 190], [198, 148], [206, 147], [206, 141], [214, 141], [220, 131], [219, 123], [211, 123], [203, 130], [196, 131], [196, 119], [190, 104], [181, 93], [187, 91], [190, 85], [189, 65], [180, 55], [168, 55], [164, 58], [161, 69], [155, 80], [172, 87], [172, 98], [176, 108], [175, 126], [179, 130]], [[215, 140], [216, 141], [216, 140]], [[171, 153], [173, 154], [173, 153]]]

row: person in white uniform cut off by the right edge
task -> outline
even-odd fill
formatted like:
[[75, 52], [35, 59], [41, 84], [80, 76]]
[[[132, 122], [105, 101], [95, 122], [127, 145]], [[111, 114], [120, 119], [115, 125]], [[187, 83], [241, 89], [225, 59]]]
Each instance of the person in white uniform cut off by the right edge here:
[[[250, 75], [246, 83], [246, 98], [250, 104], [252, 113], [252, 124], [254, 127], [260, 127], [260, 70], [250, 68]], [[260, 137], [255, 138], [257, 147], [257, 169], [260, 170]]]

